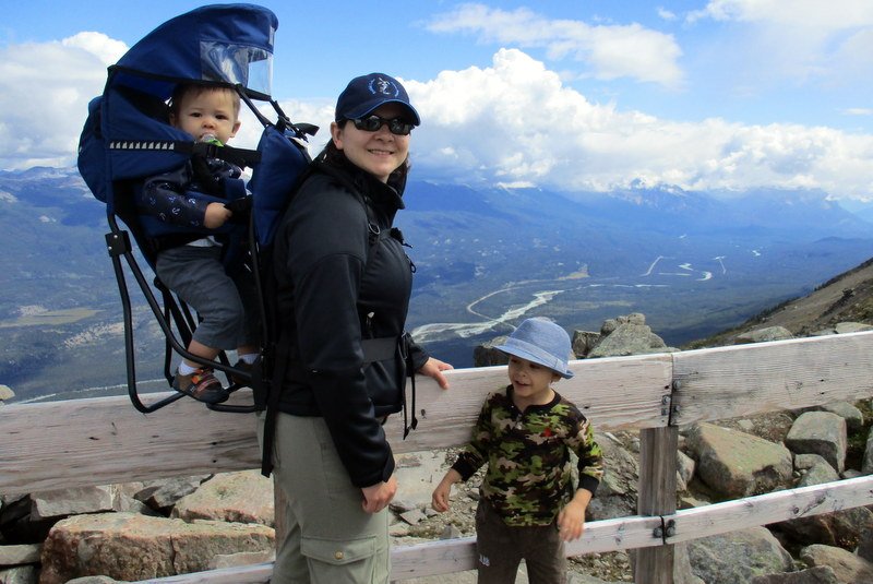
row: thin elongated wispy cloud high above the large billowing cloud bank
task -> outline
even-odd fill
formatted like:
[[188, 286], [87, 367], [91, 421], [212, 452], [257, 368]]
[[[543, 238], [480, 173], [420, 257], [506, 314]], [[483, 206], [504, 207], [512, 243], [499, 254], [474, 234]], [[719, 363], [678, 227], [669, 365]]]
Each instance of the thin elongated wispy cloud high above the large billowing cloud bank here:
[[682, 55], [671, 35], [638, 24], [596, 25], [549, 20], [521, 8], [514, 11], [464, 4], [435, 16], [434, 33], [477, 34], [483, 43], [545, 48], [550, 59], [572, 57], [585, 63], [581, 76], [601, 80], [631, 78], [669, 87], [682, 83], [677, 61]]

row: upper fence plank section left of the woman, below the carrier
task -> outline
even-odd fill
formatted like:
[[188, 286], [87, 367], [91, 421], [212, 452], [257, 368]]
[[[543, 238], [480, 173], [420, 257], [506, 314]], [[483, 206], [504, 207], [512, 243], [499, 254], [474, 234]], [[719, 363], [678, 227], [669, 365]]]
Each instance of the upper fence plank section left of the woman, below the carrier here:
[[212, 412], [193, 400], [150, 415], [127, 397], [0, 408], [5, 494], [242, 470], [255, 467], [258, 454], [253, 416]]

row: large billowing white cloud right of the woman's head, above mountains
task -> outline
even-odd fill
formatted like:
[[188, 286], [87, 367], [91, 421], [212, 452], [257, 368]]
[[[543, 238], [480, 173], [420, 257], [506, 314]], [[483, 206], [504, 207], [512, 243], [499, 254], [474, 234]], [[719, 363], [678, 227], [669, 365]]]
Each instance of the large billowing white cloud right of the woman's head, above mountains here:
[[417, 174], [475, 183], [608, 190], [634, 181], [684, 189], [873, 186], [873, 136], [828, 128], [677, 122], [588, 102], [517, 49], [487, 69], [406, 82], [423, 126]]

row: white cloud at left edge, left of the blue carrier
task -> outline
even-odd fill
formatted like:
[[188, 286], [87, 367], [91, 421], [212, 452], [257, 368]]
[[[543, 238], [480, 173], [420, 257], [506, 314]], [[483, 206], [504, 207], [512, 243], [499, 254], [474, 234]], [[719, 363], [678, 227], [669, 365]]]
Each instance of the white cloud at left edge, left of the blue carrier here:
[[87, 104], [124, 50], [99, 33], [0, 49], [0, 167], [69, 165]]

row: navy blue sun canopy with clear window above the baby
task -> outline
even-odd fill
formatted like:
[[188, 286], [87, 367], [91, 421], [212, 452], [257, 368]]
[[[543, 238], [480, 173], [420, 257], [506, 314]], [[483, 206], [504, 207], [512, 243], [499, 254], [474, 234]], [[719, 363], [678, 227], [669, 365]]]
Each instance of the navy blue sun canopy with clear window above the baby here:
[[171, 19], [110, 68], [111, 84], [163, 99], [176, 83], [241, 85], [253, 97], [271, 95], [273, 41], [278, 21], [254, 4], [215, 4]]

